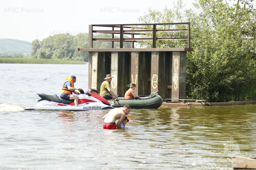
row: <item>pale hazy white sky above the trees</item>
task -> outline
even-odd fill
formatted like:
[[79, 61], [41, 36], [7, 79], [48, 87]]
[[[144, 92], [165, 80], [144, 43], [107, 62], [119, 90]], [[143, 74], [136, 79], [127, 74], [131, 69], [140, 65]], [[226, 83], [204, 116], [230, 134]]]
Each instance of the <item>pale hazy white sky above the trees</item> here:
[[[172, 8], [173, 2], [177, 0], [5, 0], [0, 8], [0, 38], [32, 42], [58, 33], [88, 33], [89, 24], [139, 23], [148, 8], [162, 11], [165, 6]], [[183, 0], [186, 8], [193, 8], [193, 2]]]

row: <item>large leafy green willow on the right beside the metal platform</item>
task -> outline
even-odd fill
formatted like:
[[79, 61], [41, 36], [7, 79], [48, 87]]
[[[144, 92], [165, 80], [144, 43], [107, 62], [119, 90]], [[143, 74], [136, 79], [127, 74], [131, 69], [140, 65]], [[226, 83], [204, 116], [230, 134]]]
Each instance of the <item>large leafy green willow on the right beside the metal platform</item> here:
[[[222, 0], [198, 0], [193, 4], [199, 11], [196, 12], [184, 10], [179, 0], [172, 9], [165, 8], [161, 12], [149, 9], [139, 18], [141, 23], [191, 23], [191, 48], [194, 51], [187, 53], [188, 99], [211, 102], [256, 100], [253, 59], [256, 11], [250, 2], [237, 0], [236, 4], [230, 5]], [[165, 29], [165, 26], [159, 29]], [[184, 33], [157, 34], [157, 37], [173, 36], [184, 36]], [[151, 47], [151, 44], [144, 41], [140, 45]], [[186, 42], [158, 41], [157, 47], [184, 48]]]

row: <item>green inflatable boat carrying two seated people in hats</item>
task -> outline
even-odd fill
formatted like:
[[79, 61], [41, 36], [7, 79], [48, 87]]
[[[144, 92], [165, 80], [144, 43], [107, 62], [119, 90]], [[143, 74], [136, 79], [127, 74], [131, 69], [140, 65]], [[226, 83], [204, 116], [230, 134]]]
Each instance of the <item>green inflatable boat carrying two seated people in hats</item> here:
[[140, 96], [140, 98], [141, 99], [124, 99], [124, 97], [118, 97], [118, 100], [108, 100], [108, 102], [112, 107], [130, 105], [133, 109], [157, 109], [163, 103], [162, 97], [157, 94]]

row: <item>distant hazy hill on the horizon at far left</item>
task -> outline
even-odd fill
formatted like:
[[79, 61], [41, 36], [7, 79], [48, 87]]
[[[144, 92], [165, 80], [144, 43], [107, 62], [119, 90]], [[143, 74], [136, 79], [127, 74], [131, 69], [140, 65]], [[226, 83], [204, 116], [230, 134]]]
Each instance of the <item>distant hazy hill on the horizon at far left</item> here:
[[8, 38], [0, 39], [0, 53], [21, 53], [29, 54], [31, 52], [31, 42], [14, 40]]

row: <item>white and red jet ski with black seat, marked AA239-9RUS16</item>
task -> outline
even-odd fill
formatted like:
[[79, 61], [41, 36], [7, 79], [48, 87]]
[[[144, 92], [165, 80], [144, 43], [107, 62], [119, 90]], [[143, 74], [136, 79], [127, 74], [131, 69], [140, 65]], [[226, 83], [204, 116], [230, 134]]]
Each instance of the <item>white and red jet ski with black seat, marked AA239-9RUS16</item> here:
[[[83, 91], [83, 90], [82, 90]], [[25, 110], [68, 110], [68, 111], [83, 111], [83, 110], [101, 110], [112, 109], [110, 103], [93, 92], [94, 89], [89, 89], [86, 93], [81, 92], [78, 97], [78, 106], [75, 107], [74, 100], [65, 100], [60, 96], [37, 93], [41, 97], [36, 106], [26, 107]]]

